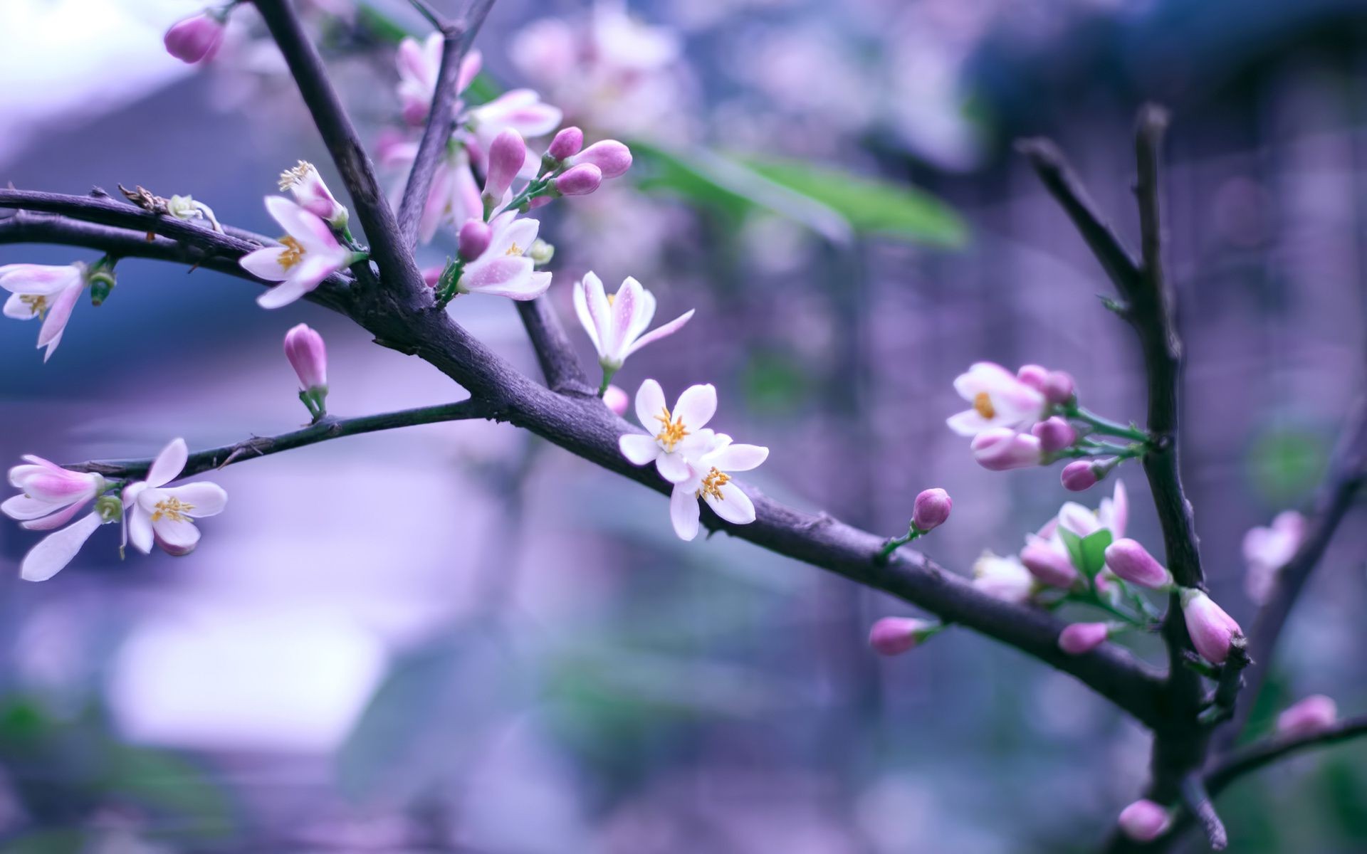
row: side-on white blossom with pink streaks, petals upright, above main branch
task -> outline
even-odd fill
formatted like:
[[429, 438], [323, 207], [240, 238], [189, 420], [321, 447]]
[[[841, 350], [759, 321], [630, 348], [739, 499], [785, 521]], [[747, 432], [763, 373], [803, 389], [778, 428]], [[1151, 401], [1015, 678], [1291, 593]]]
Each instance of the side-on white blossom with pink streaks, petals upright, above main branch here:
[[606, 294], [592, 272], [574, 283], [574, 313], [599, 354], [599, 365], [615, 372], [641, 347], [678, 332], [693, 317], [689, 309], [670, 322], [647, 332], [655, 318], [655, 295], [627, 276], [617, 294]]

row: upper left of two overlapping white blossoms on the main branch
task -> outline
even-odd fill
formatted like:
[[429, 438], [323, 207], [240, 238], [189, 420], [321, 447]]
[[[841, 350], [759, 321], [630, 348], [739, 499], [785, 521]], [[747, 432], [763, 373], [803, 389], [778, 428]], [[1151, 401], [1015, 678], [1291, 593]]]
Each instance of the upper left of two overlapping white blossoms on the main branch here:
[[715, 435], [711, 430], [704, 432], [703, 428], [714, 414], [716, 414], [716, 388], [711, 384], [689, 385], [670, 410], [664, 404], [664, 389], [660, 384], [645, 380], [636, 392], [636, 417], [647, 430], [659, 422], [660, 432], [653, 436], [627, 433], [618, 440], [618, 447], [632, 465], [644, 466], [653, 462], [660, 477], [671, 484], [682, 484], [694, 474], [689, 460], [700, 459], [712, 450]]

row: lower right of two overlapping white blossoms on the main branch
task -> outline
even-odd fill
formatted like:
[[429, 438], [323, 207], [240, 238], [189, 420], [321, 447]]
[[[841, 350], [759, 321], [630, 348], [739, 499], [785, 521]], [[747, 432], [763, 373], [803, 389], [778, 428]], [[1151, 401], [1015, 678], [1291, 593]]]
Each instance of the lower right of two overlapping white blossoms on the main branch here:
[[[699, 387], [694, 385], [693, 388]], [[711, 388], [711, 385], [705, 388]], [[686, 395], [688, 391], [684, 394]], [[640, 400], [641, 396], [637, 395], [637, 410], [640, 410], [641, 406]], [[679, 398], [679, 406], [675, 407], [675, 411], [679, 411], [684, 407], [684, 399]], [[626, 440], [629, 437], [623, 436], [622, 439]], [[731, 444], [731, 437], [725, 433], [708, 436], [707, 445], [701, 456], [696, 460], [689, 459], [686, 463], [688, 478], [682, 482], [675, 482], [674, 492], [670, 495], [670, 521], [674, 522], [674, 533], [678, 534], [681, 540], [692, 540], [697, 536], [700, 518], [700, 510], [697, 506], [699, 499], [707, 501], [707, 506], [712, 508], [712, 512], [733, 525], [749, 525], [753, 522], [755, 504], [740, 486], [731, 482], [730, 473], [749, 471], [763, 463], [767, 458], [768, 448], [766, 447]], [[663, 459], [663, 456], [659, 459]], [[656, 465], [659, 463], [659, 459], [656, 460]], [[632, 462], [636, 460], [633, 459]], [[664, 474], [663, 469], [660, 470], [660, 474]]]

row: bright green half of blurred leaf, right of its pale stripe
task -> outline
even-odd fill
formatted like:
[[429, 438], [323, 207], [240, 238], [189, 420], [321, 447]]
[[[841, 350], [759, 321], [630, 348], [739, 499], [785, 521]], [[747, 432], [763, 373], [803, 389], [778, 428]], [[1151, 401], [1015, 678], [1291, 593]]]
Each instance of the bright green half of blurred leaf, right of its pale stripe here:
[[968, 239], [964, 220], [934, 195], [901, 183], [801, 160], [748, 159], [770, 180], [839, 213], [854, 231], [957, 249]]

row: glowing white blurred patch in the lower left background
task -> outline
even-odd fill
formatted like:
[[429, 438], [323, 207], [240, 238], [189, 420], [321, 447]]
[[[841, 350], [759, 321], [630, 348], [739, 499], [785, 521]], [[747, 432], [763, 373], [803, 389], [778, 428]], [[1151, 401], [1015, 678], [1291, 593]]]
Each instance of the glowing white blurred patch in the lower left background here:
[[261, 605], [149, 619], [119, 650], [109, 705], [144, 743], [327, 753], [351, 730], [385, 655], [325, 614]]

